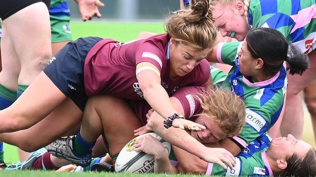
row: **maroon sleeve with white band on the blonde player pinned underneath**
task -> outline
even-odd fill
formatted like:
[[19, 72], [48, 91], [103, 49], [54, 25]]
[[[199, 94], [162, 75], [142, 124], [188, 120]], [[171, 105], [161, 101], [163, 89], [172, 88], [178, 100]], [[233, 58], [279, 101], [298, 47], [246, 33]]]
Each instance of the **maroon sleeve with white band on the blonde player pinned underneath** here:
[[204, 89], [202, 86], [182, 87], [172, 95], [181, 102], [186, 119], [190, 120], [194, 115], [202, 113], [203, 109], [197, 97]]

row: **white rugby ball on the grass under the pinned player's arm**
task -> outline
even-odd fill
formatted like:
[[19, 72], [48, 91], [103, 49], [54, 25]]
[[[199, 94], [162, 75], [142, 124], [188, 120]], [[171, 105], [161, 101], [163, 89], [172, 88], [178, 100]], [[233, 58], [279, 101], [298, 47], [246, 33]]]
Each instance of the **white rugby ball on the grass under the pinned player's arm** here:
[[146, 133], [132, 139], [127, 145], [123, 147], [121, 152], [118, 154], [115, 161], [115, 171], [116, 172], [130, 172], [130, 173], [149, 173], [153, 172], [154, 157], [152, 155], [146, 154], [145, 152], [134, 151], [134, 144], [139, 138], [151, 135], [158, 139], [170, 155], [171, 145], [170, 143], [163, 140], [156, 133]]

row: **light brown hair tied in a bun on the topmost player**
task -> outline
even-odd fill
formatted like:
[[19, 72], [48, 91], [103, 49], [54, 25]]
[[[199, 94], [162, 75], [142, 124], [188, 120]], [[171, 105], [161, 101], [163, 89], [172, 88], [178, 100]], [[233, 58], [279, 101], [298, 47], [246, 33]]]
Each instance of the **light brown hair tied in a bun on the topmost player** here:
[[211, 48], [217, 38], [217, 28], [209, 0], [191, 0], [190, 8], [173, 12], [167, 18], [166, 31], [176, 41], [191, 48]]

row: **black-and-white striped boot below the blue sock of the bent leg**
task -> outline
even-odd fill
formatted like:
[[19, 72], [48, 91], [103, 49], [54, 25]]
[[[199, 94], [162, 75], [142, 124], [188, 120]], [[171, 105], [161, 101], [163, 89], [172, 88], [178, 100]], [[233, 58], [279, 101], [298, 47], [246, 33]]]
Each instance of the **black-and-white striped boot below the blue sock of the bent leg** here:
[[68, 160], [82, 167], [86, 167], [90, 165], [92, 151], [84, 156], [76, 155], [74, 153], [74, 138], [75, 137], [60, 138], [50, 145], [47, 145], [45, 148], [55, 157]]

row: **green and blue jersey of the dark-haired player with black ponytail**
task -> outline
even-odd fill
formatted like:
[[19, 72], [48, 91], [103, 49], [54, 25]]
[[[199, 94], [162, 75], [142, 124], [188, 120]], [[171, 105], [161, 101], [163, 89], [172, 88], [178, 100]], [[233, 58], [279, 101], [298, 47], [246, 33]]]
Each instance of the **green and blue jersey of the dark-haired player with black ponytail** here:
[[[279, 119], [284, 105], [284, 95], [287, 87], [285, 67], [271, 79], [255, 82], [245, 78], [240, 72], [237, 51], [241, 43], [220, 43], [217, 48], [217, 58], [221, 63], [233, 65], [227, 78], [223, 71], [211, 69], [213, 82], [224, 80], [222, 88], [229, 88], [241, 97], [246, 106], [246, 124], [242, 132], [233, 137], [243, 147], [263, 135]], [[221, 77], [220, 77], [221, 76]], [[220, 81], [219, 81], [220, 80]]]

